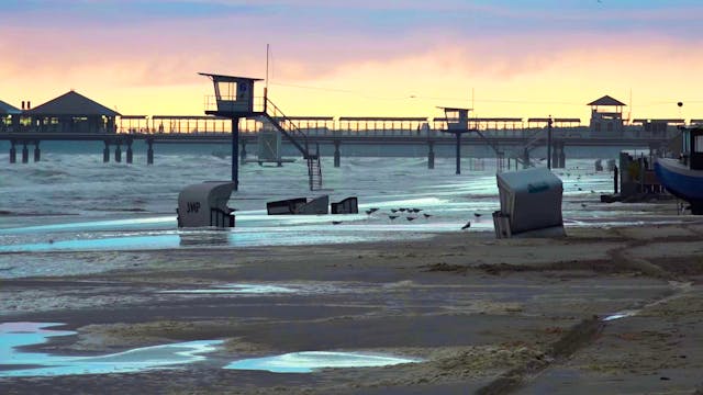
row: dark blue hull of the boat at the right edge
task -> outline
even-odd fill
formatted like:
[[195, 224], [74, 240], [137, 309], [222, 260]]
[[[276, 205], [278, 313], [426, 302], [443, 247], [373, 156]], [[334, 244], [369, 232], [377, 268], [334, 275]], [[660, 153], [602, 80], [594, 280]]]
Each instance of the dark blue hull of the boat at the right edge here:
[[691, 203], [694, 212], [703, 210], [703, 170], [691, 170], [674, 159], [657, 159], [655, 172], [672, 195]]

